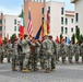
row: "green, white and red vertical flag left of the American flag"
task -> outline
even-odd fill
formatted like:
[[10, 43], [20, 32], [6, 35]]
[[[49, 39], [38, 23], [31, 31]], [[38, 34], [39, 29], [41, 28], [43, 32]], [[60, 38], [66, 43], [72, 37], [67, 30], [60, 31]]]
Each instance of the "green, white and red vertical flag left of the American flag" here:
[[20, 17], [21, 17], [20, 37], [23, 37], [24, 36], [24, 26], [25, 26], [25, 24], [24, 24], [24, 12], [23, 12], [23, 10], [22, 10], [22, 13], [21, 13]]

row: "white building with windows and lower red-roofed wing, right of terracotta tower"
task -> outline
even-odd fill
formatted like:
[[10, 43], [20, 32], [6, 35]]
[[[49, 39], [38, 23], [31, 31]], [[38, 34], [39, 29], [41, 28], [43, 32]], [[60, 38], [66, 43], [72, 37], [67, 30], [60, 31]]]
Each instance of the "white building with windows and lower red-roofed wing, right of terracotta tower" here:
[[71, 39], [74, 28], [74, 11], [66, 11], [66, 3], [58, 1], [48, 1], [45, 7], [46, 11], [50, 11], [50, 35]]

